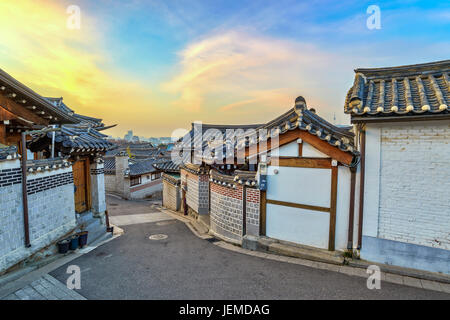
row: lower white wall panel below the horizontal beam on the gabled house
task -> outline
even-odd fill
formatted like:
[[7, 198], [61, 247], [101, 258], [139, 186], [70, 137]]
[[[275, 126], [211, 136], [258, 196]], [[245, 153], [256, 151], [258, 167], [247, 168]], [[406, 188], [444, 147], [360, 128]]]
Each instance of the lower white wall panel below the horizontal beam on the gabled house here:
[[267, 204], [268, 237], [327, 249], [329, 213]]

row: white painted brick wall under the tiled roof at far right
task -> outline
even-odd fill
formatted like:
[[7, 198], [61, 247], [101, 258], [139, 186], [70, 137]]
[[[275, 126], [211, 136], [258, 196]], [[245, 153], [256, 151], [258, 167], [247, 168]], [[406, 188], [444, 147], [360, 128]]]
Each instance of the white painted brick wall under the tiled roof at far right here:
[[381, 128], [378, 237], [450, 250], [450, 124]]

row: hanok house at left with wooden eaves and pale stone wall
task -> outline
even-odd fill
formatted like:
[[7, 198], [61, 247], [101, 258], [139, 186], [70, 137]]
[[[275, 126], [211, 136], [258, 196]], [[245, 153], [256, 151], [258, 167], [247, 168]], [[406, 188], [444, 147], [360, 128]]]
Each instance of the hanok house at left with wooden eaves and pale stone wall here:
[[[0, 70], [0, 273], [50, 254], [52, 243], [84, 227], [80, 226], [75, 214], [74, 185], [78, 182], [73, 174], [72, 160], [76, 160], [77, 155], [65, 153], [66, 150], [77, 152], [78, 148], [60, 149], [58, 143], [51, 148], [46, 132], [36, 132], [55, 126], [60, 130], [55, 136], [59, 137], [65, 126], [79, 123], [75, 114]], [[46, 142], [31, 140], [31, 135], [23, 134], [30, 130], [37, 134], [34, 138], [40, 137]], [[70, 141], [76, 146], [79, 139], [83, 140], [71, 136]], [[33, 153], [30, 149], [34, 146], [30, 144], [41, 145], [39, 151], [42, 152]], [[21, 154], [22, 147], [27, 150], [25, 154]], [[93, 149], [89, 154], [93, 153], [95, 157], [97, 150]], [[51, 157], [52, 153], [54, 157]], [[79, 155], [80, 158], [83, 156], [82, 153]], [[97, 183], [98, 188], [90, 189], [90, 203], [95, 206], [104, 203], [104, 193], [101, 194], [103, 186], [95, 171], [101, 171], [101, 164], [92, 163], [93, 171], [84, 168], [83, 183], [85, 188], [89, 188], [89, 183]], [[75, 164], [74, 168], [77, 166]], [[100, 205], [97, 208], [104, 210]], [[104, 234], [105, 228], [101, 229]]]

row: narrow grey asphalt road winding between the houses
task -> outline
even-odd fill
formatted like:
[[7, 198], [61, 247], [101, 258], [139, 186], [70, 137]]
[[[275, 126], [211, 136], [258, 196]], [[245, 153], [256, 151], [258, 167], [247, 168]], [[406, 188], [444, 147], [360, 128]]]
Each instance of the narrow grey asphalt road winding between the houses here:
[[[109, 206], [157, 214], [139, 202], [108, 198]], [[145, 212], [144, 212], [145, 211]], [[111, 212], [111, 210], [110, 210]], [[114, 210], [112, 215], [119, 215]], [[197, 238], [178, 220], [129, 224], [125, 234], [73, 260], [88, 299], [450, 299], [450, 295], [248, 256]], [[150, 240], [155, 234], [163, 240]], [[51, 275], [65, 283], [66, 266]]]

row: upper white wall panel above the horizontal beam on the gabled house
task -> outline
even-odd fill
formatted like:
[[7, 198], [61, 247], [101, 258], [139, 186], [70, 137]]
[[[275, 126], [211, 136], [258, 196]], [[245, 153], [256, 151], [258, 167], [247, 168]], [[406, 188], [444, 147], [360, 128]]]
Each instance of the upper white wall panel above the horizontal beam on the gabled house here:
[[267, 199], [330, 207], [330, 169], [269, 166], [267, 182]]

